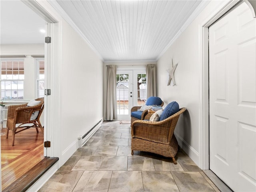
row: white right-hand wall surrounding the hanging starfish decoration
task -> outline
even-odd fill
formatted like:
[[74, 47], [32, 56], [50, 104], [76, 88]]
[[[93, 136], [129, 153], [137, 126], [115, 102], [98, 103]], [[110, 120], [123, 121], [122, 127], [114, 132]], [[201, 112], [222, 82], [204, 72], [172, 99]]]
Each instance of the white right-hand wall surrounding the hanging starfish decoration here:
[[[186, 107], [187, 111], [180, 116], [175, 129], [179, 145], [200, 167], [200, 52], [202, 39], [200, 30], [206, 18], [211, 15], [223, 1], [211, 1], [196, 19], [184, 30], [176, 41], [166, 50], [158, 60], [158, 96], [166, 104], [176, 101], [180, 107]], [[175, 70], [175, 86], [167, 86], [167, 69], [178, 63]], [[202, 167], [200, 167], [202, 168]]]

